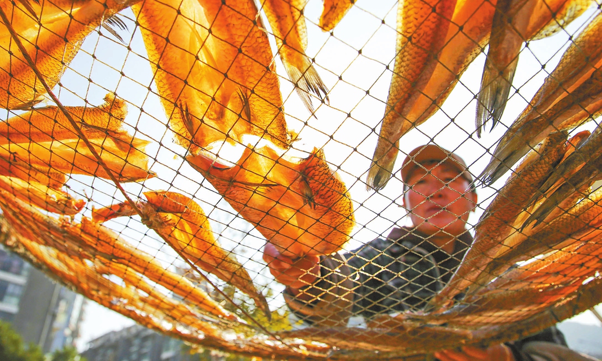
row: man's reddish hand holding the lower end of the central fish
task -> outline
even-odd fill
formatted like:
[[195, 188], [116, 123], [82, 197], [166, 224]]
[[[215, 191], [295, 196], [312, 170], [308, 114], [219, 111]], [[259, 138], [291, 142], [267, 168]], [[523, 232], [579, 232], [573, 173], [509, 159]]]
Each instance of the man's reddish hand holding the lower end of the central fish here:
[[273, 244], [267, 243], [263, 258], [276, 281], [293, 290], [311, 285], [320, 275], [318, 256], [305, 256], [293, 260], [282, 256]]

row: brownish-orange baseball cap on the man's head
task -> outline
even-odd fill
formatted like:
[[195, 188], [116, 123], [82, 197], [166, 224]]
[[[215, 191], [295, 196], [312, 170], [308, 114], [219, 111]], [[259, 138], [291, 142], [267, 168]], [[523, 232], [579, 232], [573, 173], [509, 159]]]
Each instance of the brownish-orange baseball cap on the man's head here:
[[402, 164], [402, 181], [406, 184], [411, 174], [420, 168], [421, 164], [427, 162], [445, 162], [446, 164], [453, 165], [458, 169], [458, 173], [461, 174], [470, 184], [473, 183], [473, 176], [468, 171], [468, 167], [464, 162], [464, 159], [458, 155], [450, 152], [449, 150], [443, 149], [436, 144], [425, 144], [419, 146], [408, 153], [406, 159], [403, 160]]

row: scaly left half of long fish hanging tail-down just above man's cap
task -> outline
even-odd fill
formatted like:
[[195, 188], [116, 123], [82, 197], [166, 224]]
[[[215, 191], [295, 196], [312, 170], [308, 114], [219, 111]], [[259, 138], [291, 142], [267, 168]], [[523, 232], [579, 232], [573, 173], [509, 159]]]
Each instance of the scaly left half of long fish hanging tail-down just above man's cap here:
[[425, 67], [445, 45], [455, 7], [456, 0], [411, 0], [397, 5], [397, 55], [367, 187], [380, 190], [391, 177], [399, 152], [400, 129], [408, 122], [402, 116], [403, 108], [421, 74], [434, 70]]

